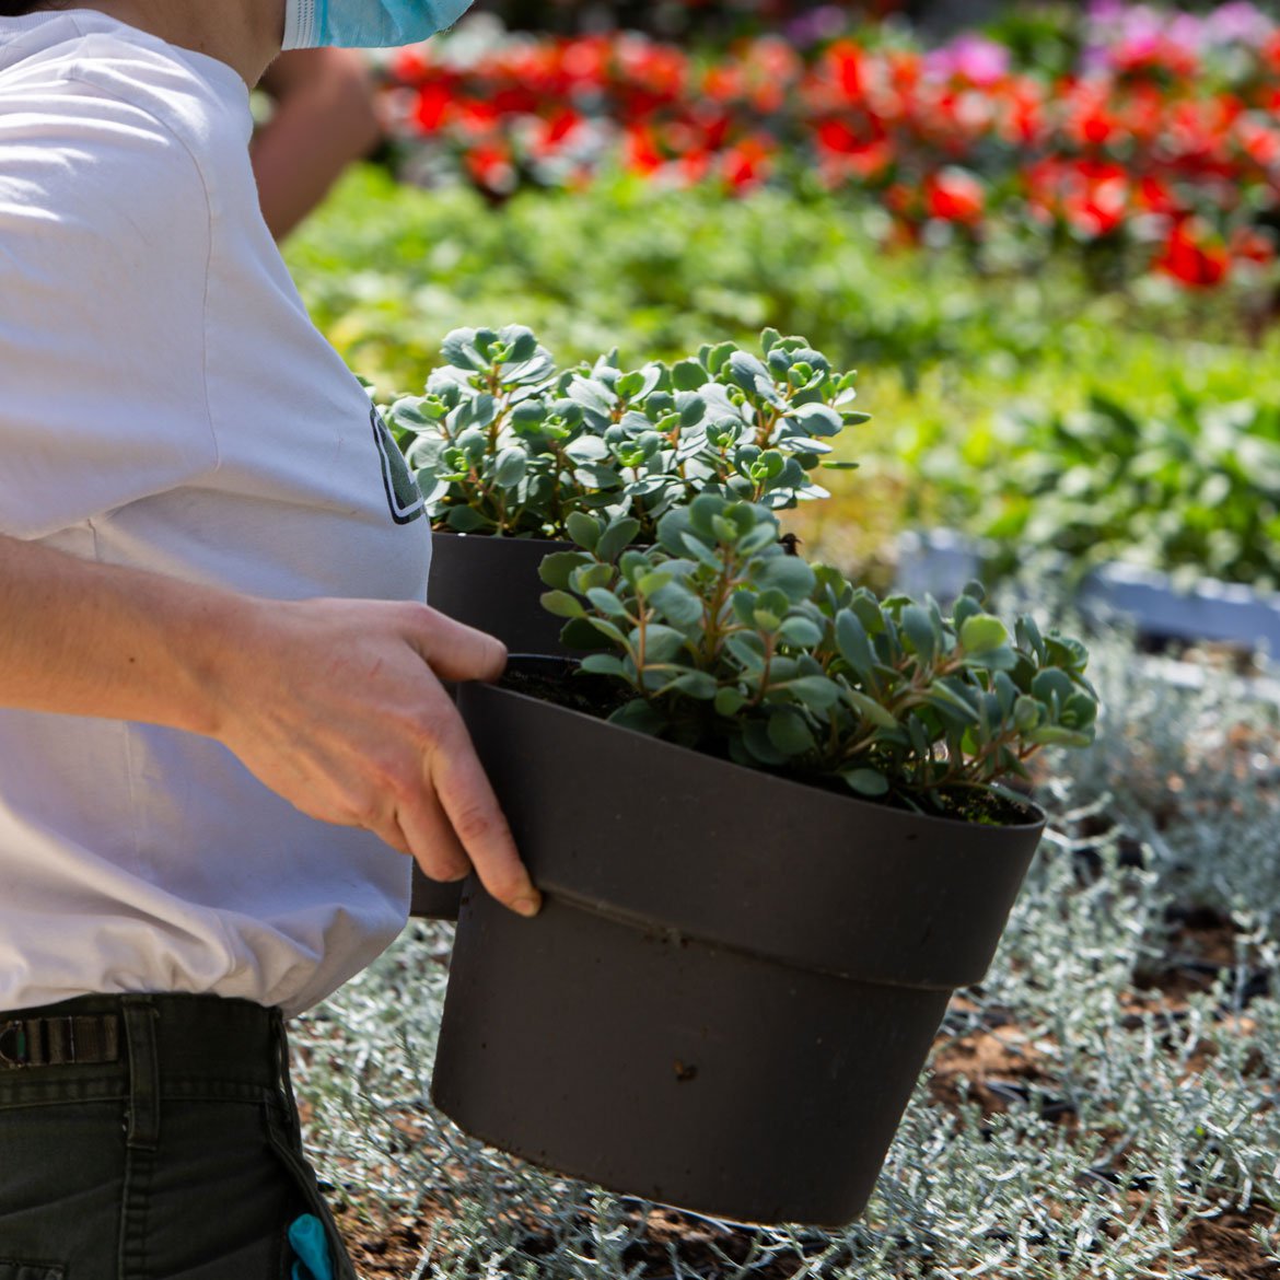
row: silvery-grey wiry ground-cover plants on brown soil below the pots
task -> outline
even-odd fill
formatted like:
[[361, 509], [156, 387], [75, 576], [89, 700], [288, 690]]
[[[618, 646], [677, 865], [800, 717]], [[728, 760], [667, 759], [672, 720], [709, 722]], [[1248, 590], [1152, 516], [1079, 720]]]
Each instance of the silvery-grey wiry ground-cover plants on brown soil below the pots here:
[[1121, 636], [1089, 648], [1096, 741], [1047, 748], [1048, 835], [860, 1222], [733, 1229], [462, 1137], [428, 1102], [452, 927], [413, 924], [296, 1037], [310, 1137], [362, 1272], [1274, 1275], [1280, 710], [1228, 671], [1175, 680]]

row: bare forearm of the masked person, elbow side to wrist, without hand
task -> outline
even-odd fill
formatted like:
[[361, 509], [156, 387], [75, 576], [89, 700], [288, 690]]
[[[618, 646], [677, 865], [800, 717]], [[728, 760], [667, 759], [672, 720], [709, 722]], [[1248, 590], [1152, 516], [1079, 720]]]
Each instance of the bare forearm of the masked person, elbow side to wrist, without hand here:
[[212, 732], [246, 598], [0, 536], [0, 707]]

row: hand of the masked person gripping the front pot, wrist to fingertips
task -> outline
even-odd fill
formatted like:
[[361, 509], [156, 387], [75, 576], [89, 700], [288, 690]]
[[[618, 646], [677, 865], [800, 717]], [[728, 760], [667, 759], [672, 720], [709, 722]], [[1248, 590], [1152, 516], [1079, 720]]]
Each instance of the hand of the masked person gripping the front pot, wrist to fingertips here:
[[474, 867], [541, 902], [442, 680], [497, 680], [499, 640], [412, 603], [243, 600], [212, 673], [212, 736], [302, 813], [364, 827], [436, 881]]

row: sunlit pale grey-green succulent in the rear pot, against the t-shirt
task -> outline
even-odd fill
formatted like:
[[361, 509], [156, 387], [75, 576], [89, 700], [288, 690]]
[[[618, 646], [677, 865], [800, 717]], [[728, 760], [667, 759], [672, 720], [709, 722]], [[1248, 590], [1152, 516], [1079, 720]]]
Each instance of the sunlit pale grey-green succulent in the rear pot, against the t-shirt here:
[[573, 515], [627, 513], [652, 543], [699, 493], [772, 509], [828, 497], [810, 472], [828, 438], [867, 420], [850, 407], [855, 374], [804, 338], [767, 329], [760, 344], [635, 370], [614, 349], [561, 371], [524, 325], [454, 329], [425, 394], [388, 419], [439, 529], [564, 539]]

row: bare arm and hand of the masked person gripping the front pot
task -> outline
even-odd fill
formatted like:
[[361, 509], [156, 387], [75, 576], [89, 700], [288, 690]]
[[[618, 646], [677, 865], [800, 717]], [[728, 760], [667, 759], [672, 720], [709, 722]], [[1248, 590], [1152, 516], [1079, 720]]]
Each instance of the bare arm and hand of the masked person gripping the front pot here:
[[0, 707], [218, 739], [312, 818], [365, 827], [436, 879], [539, 896], [439, 678], [506, 650], [426, 605], [260, 600], [0, 536]]

